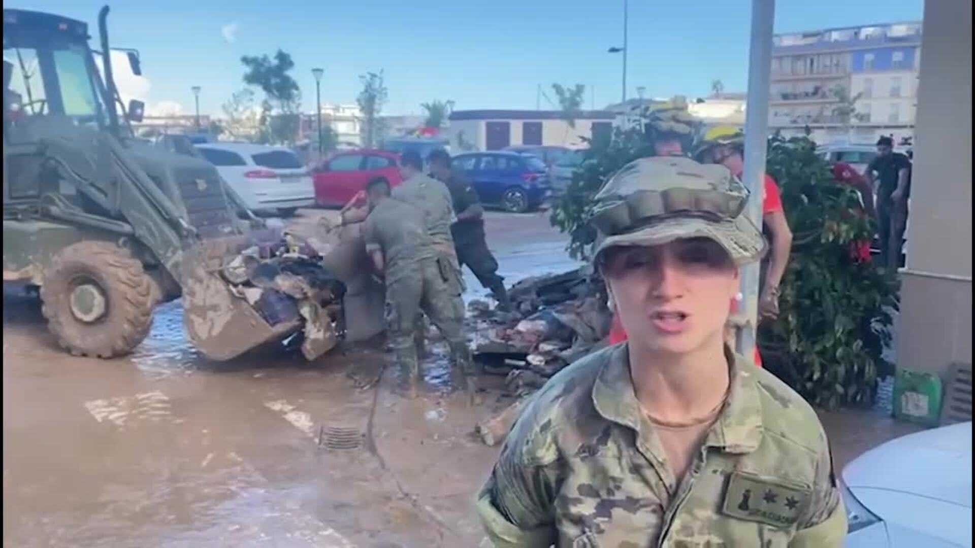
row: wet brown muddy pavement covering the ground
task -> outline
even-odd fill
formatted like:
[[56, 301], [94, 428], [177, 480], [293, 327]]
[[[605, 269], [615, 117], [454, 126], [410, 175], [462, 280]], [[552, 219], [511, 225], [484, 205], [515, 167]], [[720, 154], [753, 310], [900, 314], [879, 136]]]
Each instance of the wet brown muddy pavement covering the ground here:
[[[313, 226], [317, 215], [290, 219]], [[577, 263], [543, 214], [487, 214], [512, 284]], [[486, 294], [465, 271], [467, 298]], [[446, 348], [421, 398], [392, 389], [381, 346], [208, 362], [178, 302], [126, 358], [61, 352], [37, 299], [5, 292], [4, 546], [477, 546], [472, 508], [497, 454], [474, 436], [509, 400], [451, 393]], [[385, 372], [385, 374], [383, 374]], [[379, 379], [376, 382], [376, 379]], [[487, 378], [488, 387], [501, 378]], [[914, 427], [824, 413], [840, 462]]]

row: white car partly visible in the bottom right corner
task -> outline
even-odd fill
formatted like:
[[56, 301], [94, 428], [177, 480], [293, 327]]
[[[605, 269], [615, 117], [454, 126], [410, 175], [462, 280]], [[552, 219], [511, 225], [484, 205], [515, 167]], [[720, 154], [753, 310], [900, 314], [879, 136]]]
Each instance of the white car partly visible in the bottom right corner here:
[[972, 545], [972, 423], [887, 442], [842, 474], [848, 548]]

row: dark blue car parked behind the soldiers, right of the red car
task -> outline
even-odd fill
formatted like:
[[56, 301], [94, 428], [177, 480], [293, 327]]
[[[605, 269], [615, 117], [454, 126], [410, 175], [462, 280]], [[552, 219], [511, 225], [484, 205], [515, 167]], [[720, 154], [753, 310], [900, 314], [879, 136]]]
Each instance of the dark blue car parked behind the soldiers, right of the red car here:
[[538, 208], [551, 193], [548, 169], [535, 156], [515, 152], [469, 152], [453, 157], [452, 167], [474, 184], [481, 202], [512, 213]]

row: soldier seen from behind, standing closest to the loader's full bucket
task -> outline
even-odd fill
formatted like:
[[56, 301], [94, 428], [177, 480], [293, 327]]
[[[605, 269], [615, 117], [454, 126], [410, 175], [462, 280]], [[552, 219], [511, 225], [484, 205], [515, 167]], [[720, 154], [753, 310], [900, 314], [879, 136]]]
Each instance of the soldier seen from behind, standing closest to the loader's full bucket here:
[[463, 333], [464, 306], [451, 284], [449, 265], [434, 248], [421, 213], [391, 199], [389, 181], [367, 185], [370, 214], [363, 225], [366, 251], [386, 283], [386, 325], [407, 394], [415, 397], [419, 380], [413, 330], [422, 310], [443, 333], [454, 367], [474, 398], [470, 349]]

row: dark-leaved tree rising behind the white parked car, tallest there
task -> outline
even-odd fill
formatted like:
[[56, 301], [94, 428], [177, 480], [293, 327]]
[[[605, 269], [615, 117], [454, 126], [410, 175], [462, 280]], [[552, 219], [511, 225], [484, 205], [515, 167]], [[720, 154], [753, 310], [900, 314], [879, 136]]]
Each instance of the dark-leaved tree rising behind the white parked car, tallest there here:
[[244, 83], [264, 92], [258, 140], [292, 144], [300, 123], [298, 109], [301, 103], [301, 91], [290, 74], [294, 68], [292, 56], [278, 50], [273, 59], [267, 55], [244, 56], [241, 62], [247, 68]]

